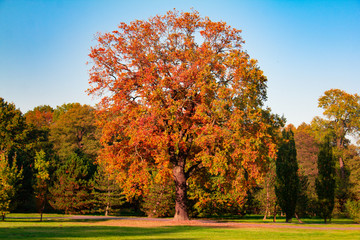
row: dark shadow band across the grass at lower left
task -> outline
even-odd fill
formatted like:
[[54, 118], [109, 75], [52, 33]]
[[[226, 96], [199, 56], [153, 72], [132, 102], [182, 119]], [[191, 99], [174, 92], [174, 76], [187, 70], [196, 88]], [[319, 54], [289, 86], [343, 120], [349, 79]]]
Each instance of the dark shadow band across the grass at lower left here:
[[[160, 227], [113, 227], [113, 226], [26, 226], [2, 228], [0, 225], [0, 239], [195, 239], [188, 238], [189, 231], [197, 228]], [[182, 236], [181, 233], [186, 233]], [[167, 237], [166, 235], [178, 234], [179, 236]]]

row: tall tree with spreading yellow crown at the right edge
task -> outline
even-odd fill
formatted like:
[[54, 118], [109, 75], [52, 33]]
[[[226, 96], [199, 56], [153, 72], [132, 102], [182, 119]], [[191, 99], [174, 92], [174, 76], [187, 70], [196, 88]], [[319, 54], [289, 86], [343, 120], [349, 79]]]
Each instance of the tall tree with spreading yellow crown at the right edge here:
[[345, 202], [349, 197], [349, 173], [346, 170], [344, 152], [349, 145], [347, 137], [349, 135], [359, 137], [360, 96], [339, 89], [330, 89], [325, 91], [324, 95], [319, 98], [319, 107], [324, 109], [323, 114], [328, 119], [325, 121], [327, 128], [331, 129], [336, 143], [334, 154], [339, 160], [339, 180], [336, 195], [339, 200], [340, 210], [344, 212]]

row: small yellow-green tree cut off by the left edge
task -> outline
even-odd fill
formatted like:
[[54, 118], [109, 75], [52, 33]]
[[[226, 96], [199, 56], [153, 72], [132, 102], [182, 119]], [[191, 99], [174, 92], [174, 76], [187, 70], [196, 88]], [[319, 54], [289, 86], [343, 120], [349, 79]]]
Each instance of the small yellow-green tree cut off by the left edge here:
[[9, 164], [4, 152], [0, 152], [0, 214], [2, 220], [10, 211], [11, 201], [14, 200], [18, 181], [22, 179], [22, 170], [16, 166], [16, 158]]

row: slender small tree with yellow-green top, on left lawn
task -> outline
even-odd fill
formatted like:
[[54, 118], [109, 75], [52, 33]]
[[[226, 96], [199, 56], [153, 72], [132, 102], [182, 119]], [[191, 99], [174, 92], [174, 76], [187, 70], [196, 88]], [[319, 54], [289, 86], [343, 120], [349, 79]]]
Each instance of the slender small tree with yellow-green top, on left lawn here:
[[43, 212], [45, 209], [48, 188], [50, 182], [49, 162], [46, 160], [46, 154], [43, 150], [36, 153], [35, 162], [35, 179], [34, 179], [34, 192], [38, 200], [38, 210], [40, 213], [40, 221], [42, 221]]

